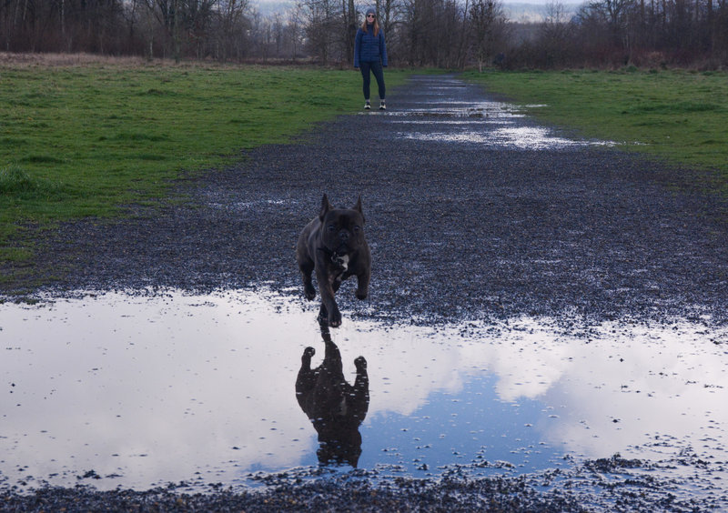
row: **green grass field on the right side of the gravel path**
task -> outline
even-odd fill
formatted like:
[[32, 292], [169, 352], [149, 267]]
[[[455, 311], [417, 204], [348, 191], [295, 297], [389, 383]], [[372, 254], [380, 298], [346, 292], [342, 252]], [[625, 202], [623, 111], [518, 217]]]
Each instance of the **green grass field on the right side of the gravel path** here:
[[533, 116], [668, 161], [716, 169], [728, 183], [728, 73], [469, 72]]

